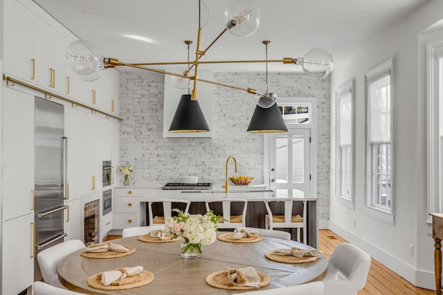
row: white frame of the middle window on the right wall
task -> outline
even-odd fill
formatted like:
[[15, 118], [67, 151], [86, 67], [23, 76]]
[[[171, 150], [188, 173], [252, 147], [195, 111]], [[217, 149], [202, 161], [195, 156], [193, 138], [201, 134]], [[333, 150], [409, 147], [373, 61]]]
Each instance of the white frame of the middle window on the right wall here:
[[[365, 130], [365, 206], [364, 210], [369, 215], [372, 215], [373, 217], [378, 217], [380, 220], [383, 220], [385, 222], [389, 222], [391, 224], [394, 224], [395, 222], [395, 182], [392, 181], [394, 177], [394, 161], [395, 161], [395, 155], [392, 153], [394, 144], [392, 142], [392, 101], [394, 100], [394, 87], [395, 85], [392, 83], [393, 79], [393, 73], [392, 73], [392, 67], [393, 67], [393, 59], [390, 58], [389, 60], [386, 60], [385, 62], [382, 62], [381, 64], [378, 64], [377, 66], [374, 66], [372, 69], [367, 71], [365, 73], [365, 100], [366, 100], [366, 112], [365, 112], [365, 122], [366, 122], [366, 130]], [[370, 83], [372, 81], [378, 80], [378, 78], [382, 78], [383, 76], [390, 75], [390, 138], [388, 141], [381, 141], [378, 143], [372, 143], [371, 142], [371, 108], [370, 108]], [[386, 208], [386, 206], [379, 206], [377, 204], [374, 204], [373, 202], [373, 180], [372, 177], [373, 171], [372, 167], [375, 164], [374, 161], [377, 161], [376, 159], [373, 159], [372, 157], [372, 149], [376, 145], [390, 145], [390, 208]], [[378, 188], [381, 189], [379, 186]]]

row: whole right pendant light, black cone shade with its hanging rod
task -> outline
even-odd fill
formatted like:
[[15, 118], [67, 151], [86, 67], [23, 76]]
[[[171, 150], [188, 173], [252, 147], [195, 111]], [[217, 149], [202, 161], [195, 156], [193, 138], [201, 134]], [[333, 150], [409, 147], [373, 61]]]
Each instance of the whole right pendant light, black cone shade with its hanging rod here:
[[287, 132], [286, 123], [284, 123], [282, 112], [275, 100], [277, 93], [271, 91], [268, 85], [268, 40], [262, 42], [266, 46], [266, 91], [264, 94], [256, 97], [257, 105], [254, 114], [249, 123], [249, 133], [276, 133]]

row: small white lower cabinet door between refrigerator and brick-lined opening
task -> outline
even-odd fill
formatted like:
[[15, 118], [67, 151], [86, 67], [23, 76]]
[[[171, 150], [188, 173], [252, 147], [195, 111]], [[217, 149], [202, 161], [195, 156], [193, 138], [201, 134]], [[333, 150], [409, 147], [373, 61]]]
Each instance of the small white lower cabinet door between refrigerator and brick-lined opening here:
[[68, 208], [64, 211], [64, 240], [83, 240], [80, 226], [83, 222], [83, 211], [80, 208], [80, 198], [66, 200], [64, 202]]

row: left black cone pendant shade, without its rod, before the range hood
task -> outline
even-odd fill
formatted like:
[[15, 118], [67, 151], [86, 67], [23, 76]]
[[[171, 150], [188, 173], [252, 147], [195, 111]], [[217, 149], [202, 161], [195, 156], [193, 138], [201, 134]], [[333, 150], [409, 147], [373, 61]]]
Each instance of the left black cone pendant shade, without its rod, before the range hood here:
[[191, 100], [190, 94], [181, 96], [169, 132], [208, 132], [209, 126], [203, 116], [198, 100]]

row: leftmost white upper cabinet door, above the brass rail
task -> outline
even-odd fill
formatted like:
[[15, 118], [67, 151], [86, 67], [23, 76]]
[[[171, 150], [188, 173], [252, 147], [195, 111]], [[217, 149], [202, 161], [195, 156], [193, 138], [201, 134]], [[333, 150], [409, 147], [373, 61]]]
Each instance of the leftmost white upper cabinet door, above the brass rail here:
[[4, 1], [3, 71], [6, 75], [34, 82], [35, 16], [18, 1]]

